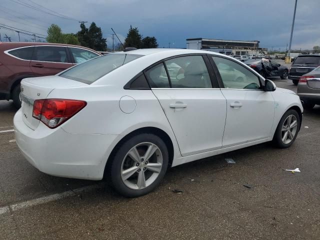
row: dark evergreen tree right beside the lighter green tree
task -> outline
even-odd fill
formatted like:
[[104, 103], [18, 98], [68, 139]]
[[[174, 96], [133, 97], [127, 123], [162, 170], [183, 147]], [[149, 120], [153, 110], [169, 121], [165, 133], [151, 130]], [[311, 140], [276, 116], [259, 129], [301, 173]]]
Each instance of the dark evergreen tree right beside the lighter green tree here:
[[106, 50], [106, 38], [102, 37], [101, 28], [92, 22], [89, 28], [84, 23], [80, 24], [81, 30], [77, 32], [77, 37], [82, 46], [86, 46], [98, 51]]

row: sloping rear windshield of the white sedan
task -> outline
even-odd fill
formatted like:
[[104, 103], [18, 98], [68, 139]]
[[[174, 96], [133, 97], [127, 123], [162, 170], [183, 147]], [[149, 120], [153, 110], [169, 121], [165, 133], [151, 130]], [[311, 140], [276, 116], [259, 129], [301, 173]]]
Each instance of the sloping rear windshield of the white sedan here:
[[91, 84], [101, 76], [141, 56], [127, 53], [110, 53], [78, 64], [62, 72], [59, 76]]

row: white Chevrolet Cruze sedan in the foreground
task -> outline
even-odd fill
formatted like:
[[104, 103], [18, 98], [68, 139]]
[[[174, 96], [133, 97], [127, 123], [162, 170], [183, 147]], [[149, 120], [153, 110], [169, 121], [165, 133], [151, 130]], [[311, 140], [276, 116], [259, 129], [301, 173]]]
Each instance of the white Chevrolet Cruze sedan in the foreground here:
[[168, 166], [273, 140], [290, 146], [299, 97], [242, 62], [189, 49], [99, 56], [21, 81], [15, 138], [45, 173], [109, 178], [126, 196], [154, 189]]

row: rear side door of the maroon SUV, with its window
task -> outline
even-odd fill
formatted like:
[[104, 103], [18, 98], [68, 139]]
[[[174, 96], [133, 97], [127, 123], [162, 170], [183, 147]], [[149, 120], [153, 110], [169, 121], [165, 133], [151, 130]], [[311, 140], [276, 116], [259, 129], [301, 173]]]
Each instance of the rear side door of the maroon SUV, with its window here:
[[34, 46], [30, 68], [36, 75], [55, 75], [71, 66], [65, 46]]

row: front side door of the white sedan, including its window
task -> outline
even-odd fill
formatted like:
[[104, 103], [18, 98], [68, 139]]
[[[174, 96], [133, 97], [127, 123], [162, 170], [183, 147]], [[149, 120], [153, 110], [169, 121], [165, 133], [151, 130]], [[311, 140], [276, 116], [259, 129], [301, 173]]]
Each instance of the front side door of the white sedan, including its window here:
[[[262, 90], [258, 76], [249, 68], [224, 57], [212, 59], [226, 98], [222, 147], [268, 138], [274, 117], [271, 92]], [[227, 67], [233, 74], [224, 73]]]

